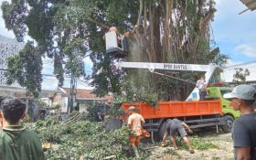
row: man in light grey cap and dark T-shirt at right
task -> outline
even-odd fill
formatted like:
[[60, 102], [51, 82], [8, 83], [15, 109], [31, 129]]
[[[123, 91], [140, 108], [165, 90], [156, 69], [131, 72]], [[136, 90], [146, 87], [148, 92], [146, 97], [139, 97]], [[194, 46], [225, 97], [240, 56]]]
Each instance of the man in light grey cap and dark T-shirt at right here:
[[253, 109], [255, 89], [242, 84], [224, 94], [224, 98], [231, 100], [234, 110], [241, 113], [232, 128], [235, 160], [256, 160], [256, 112]]

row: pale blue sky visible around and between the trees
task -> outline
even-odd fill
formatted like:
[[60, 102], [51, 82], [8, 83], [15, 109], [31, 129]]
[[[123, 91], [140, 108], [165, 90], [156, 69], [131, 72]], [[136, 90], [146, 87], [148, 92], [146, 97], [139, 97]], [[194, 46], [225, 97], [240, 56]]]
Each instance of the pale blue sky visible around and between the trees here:
[[[3, 0], [0, 0], [1, 4], [2, 2]], [[230, 65], [256, 60], [256, 11], [247, 11], [239, 15], [247, 8], [240, 0], [216, 0], [216, 8], [217, 12], [211, 24], [215, 46], [220, 48], [222, 54], [229, 56]], [[1, 9], [0, 15], [0, 35], [14, 38], [13, 32], [5, 28]], [[43, 73], [52, 74], [52, 61], [50, 59], [44, 61]], [[84, 62], [86, 71], [90, 74], [91, 60], [87, 58]], [[54, 81], [54, 85], [58, 84], [54, 77], [45, 77], [44, 81], [46, 88], [52, 88], [48, 85], [51, 81]], [[64, 86], [69, 87], [69, 80], [65, 81]], [[80, 85], [81, 88], [83, 86], [85, 84]]]

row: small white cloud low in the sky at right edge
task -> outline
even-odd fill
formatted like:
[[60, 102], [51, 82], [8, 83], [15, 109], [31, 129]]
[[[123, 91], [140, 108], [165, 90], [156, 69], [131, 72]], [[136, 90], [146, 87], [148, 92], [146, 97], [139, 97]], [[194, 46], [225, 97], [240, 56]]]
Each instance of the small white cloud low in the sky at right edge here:
[[241, 44], [235, 48], [235, 52], [245, 55], [248, 58], [256, 58], [256, 48], [247, 44]]

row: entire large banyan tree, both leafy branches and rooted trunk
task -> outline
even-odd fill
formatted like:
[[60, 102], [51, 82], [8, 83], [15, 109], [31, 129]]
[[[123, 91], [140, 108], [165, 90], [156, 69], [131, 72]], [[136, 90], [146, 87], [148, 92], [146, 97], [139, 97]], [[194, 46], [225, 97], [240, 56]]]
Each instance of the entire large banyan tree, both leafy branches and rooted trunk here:
[[[123, 59], [107, 55], [102, 38], [113, 22], [121, 33], [132, 32], [126, 61], [208, 64], [219, 55], [210, 48], [214, 0], [12, 0], [2, 10], [5, 26], [18, 41], [35, 40], [8, 63], [8, 83], [17, 80], [27, 91], [41, 91], [43, 57], [54, 59], [61, 86], [64, 74], [85, 76], [82, 59], [90, 56], [91, 85], [98, 95], [143, 91], [159, 99], [185, 97], [180, 93], [191, 85], [182, 81], [116, 69], [114, 61]], [[196, 79], [191, 73], [171, 74]]]

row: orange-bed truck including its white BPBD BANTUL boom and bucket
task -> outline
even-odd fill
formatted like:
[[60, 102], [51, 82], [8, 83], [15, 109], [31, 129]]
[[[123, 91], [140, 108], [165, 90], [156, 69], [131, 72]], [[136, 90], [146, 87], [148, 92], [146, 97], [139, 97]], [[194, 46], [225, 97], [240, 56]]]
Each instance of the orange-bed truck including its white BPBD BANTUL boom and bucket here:
[[[113, 57], [116, 57], [116, 54], [123, 54], [123, 48], [118, 48], [115, 33], [107, 33], [105, 37], [107, 53]], [[180, 71], [181, 74], [185, 71], [204, 72], [206, 84], [208, 84], [215, 70], [221, 69], [213, 63], [202, 65], [118, 61], [115, 65], [118, 69], [148, 69], [151, 73], [161, 76], [165, 74], [158, 70], [175, 70]], [[170, 75], [165, 76], [174, 78]], [[227, 91], [230, 91], [229, 88], [209, 87], [206, 101], [199, 101], [199, 91], [195, 87], [188, 95], [186, 101], [161, 101], [155, 106], [138, 101], [135, 103], [123, 103], [123, 109], [127, 110], [129, 106], [135, 106], [138, 112], [144, 116], [146, 122], [144, 129], [152, 134], [158, 133], [160, 137], [163, 137], [166, 120], [169, 118], [178, 118], [189, 124], [191, 128], [216, 126], [218, 133], [219, 126], [221, 126], [224, 132], [230, 132], [234, 119], [239, 117], [240, 113], [235, 112], [229, 106], [229, 101], [223, 99], [222, 95]], [[125, 116], [123, 117], [124, 119]]]

